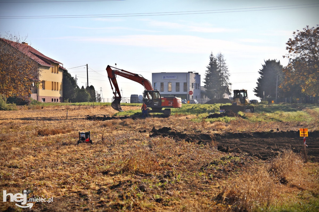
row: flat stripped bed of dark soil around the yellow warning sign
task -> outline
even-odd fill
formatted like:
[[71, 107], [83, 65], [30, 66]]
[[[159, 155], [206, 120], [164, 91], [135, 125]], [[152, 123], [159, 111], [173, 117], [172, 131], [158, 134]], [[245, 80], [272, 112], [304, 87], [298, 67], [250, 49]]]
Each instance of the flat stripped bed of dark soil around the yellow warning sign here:
[[[308, 159], [319, 162], [319, 131], [309, 132], [306, 138]], [[261, 159], [270, 159], [284, 149], [304, 154], [303, 137], [299, 131], [227, 133], [215, 135], [218, 150], [222, 152], [247, 152]]]

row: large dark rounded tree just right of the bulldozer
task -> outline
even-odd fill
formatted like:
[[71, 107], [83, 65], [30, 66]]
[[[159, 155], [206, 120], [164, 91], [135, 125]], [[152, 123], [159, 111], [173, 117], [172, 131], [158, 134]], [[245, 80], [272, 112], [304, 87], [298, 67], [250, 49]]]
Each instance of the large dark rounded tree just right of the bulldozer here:
[[[263, 98], [264, 95], [272, 98], [276, 98], [277, 86], [282, 80], [282, 68], [280, 61], [277, 60], [264, 60], [265, 64], [262, 65], [262, 69], [259, 69], [258, 73], [260, 77], [257, 79], [257, 87], [254, 89], [256, 96]], [[278, 78], [277, 78], [278, 76]], [[278, 80], [278, 81], [277, 81]]]

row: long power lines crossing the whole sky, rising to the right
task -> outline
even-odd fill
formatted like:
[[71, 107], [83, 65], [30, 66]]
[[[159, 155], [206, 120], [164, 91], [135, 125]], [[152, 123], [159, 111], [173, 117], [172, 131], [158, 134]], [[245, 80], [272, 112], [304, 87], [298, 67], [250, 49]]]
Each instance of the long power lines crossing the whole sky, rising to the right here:
[[[319, 3], [318, 3], [319, 4]], [[153, 13], [123, 13], [123, 14], [100, 14], [100, 15], [56, 15], [56, 16], [0, 16], [0, 19], [30, 19], [30, 18], [111, 18], [111, 17], [138, 17], [138, 16], [165, 16], [165, 15], [190, 15], [190, 14], [211, 14], [211, 13], [226, 13], [226, 12], [249, 12], [249, 11], [269, 11], [269, 10], [287, 10], [310, 8], [319, 6], [306, 6], [318, 4], [297, 4], [285, 6], [271, 7], [256, 7], [255, 9], [240, 8], [240, 9], [223, 9], [223, 10], [206, 10], [206, 11], [179, 11], [179, 12], [153, 12]], [[296, 7], [298, 6], [298, 7]], [[300, 7], [304, 6], [304, 7]], [[286, 7], [286, 8], [278, 8]], [[272, 9], [265, 9], [272, 8]], [[256, 10], [258, 9], [258, 10]]]

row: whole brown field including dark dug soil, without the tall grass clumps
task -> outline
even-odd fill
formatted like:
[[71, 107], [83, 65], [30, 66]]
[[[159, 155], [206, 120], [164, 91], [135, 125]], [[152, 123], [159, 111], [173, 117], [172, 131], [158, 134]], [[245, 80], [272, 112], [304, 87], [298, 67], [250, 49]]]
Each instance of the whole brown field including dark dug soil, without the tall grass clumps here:
[[[288, 149], [304, 160], [299, 129], [312, 128], [300, 121], [194, 122], [195, 115], [114, 117], [116, 112], [110, 106], [0, 111], [1, 188], [53, 197], [52, 203], [34, 203], [33, 211], [231, 211], [238, 206], [221, 198], [225, 185]], [[77, 145], [79, 131], [90, 131], [93, 144]], [[309, 132], [309, 162], [303, 164], [316, 174], [318, 135]], [[319, 184], [318, 176], [303, 177]], [[276, 185], [287, 198], [317, 189], [294, 178]], [[0, 210], [19, 208], [7, 201]]]

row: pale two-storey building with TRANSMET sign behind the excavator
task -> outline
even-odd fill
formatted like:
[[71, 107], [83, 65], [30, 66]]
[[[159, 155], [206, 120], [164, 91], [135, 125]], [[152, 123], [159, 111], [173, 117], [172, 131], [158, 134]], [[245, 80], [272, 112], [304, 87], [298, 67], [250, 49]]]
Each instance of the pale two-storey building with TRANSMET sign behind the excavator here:
[[187, 100], [201, 98], [198, 73], [152, 73], [152, 86], [154, 90], [159, 90], [161, 96], [176, 96]]

